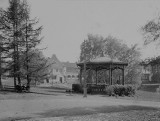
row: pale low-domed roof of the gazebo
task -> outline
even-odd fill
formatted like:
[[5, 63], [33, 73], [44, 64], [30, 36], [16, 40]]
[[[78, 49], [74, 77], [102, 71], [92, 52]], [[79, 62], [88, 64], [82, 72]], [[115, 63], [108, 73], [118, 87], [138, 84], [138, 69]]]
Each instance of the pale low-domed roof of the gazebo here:
[[[83, 64], [84, 64], [84, 61], [77, 63], [78, 66], [81, 66]], [[86, 62], [86, 64], [119, 64], [119, 65], [126, 65], [126, 66], [128, 65], [128, 63], [119, 61], [118, 59], [111, 59], [109, 57], [98, 57]]]

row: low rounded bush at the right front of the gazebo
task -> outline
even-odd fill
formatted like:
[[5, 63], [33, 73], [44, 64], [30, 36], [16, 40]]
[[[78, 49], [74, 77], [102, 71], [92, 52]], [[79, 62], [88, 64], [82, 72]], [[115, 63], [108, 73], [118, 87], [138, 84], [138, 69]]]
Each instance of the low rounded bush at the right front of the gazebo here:
[[106, 88], [106, 94], [109, 96], [131, 96], [135, 94], [135, 88], [130, 85], [110, 85]]

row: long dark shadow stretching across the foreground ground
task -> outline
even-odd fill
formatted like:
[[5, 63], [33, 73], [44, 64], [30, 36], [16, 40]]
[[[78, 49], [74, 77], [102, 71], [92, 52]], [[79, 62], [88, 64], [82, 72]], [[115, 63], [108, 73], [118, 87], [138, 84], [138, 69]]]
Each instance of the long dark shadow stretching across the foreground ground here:
[[114, 113], [124, 112], [131, 110], [160, 110], [158, 108], [143, 107], [143, 106], [103, 106], [96, 108], [71, 108], [71, 109], [59, 109], [59, 110], [48, 110], [43, 113], [38, 113], [40, 117], [60, 117], [60, 116], [80, 116], [80, 115], [91, 115], [98, 113]]

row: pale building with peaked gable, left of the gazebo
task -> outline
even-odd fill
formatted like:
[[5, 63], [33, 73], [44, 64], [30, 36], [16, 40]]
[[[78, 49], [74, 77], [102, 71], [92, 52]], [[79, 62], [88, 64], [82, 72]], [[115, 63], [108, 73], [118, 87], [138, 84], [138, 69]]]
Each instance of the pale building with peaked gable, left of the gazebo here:
[[60, 62], [55, 54], [48, 59], [50, 74], [44, 80], [45, 84], [73, 84], [78, 83], [78, 67], [76, 63]]

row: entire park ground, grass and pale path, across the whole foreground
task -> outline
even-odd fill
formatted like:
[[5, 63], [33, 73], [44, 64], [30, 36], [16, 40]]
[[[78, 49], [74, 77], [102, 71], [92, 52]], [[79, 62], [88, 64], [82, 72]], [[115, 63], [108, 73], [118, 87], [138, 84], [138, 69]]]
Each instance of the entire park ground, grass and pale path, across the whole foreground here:
[[[143, 105], [141, 101], [152, 102]], [[83, 98], [82, 94], [69, 94], [54, 87], [31, 88], [31, 93], [1, 91], [0, 121], [160, 121], [160, 109], [147, 105], [154, 102], [160, 102], [160, 94], [141, 90], [135, 97], [118, 98], [106, 95]]]

